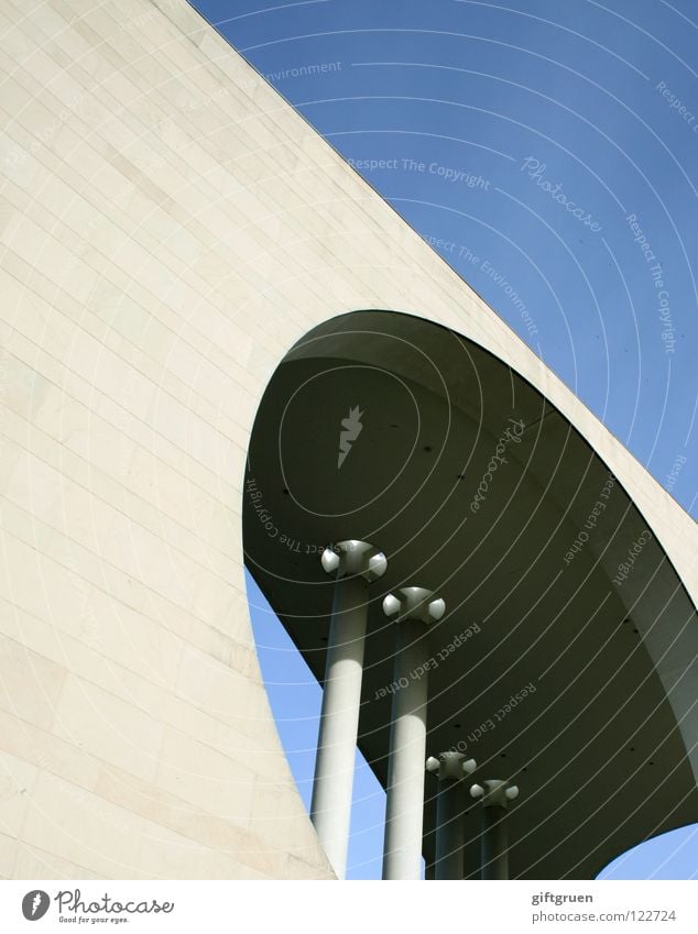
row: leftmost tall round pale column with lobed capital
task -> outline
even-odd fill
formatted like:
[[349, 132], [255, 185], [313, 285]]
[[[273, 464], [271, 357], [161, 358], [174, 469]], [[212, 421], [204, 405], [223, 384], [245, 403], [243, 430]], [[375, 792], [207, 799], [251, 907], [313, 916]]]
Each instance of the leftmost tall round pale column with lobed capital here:
[[338, 879], [347, 875], [369, 583], [386, 567], [385, 556], [364, 541], [340, 541], [323, 554], [323, 568], [337, 582], [310, 818]]

